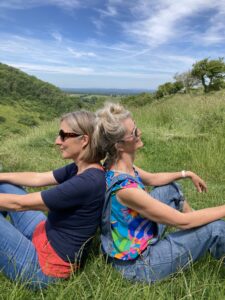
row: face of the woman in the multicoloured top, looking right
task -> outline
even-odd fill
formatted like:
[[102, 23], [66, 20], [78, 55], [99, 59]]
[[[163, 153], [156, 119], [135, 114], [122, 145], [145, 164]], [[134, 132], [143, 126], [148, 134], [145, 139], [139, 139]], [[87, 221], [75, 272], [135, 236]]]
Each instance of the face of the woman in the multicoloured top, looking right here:
[[124, 138], [122, 139], [123, 148], [129, 152], [135, 152], [137, 149], [143, 147], [141, 140], [141, 130], [135, 125], [132, 118], [127, 118], [123, 121], [123, 126], [126, 129]]

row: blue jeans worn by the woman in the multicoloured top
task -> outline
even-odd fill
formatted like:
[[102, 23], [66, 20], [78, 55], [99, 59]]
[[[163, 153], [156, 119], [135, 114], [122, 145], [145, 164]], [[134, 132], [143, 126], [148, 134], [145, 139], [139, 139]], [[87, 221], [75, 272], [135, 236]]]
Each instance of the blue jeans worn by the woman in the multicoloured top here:
[[[181, 209], [183, 196], [177, 184], [155, 188], [151, 196]], [[165, 225], [157, 224], [158, 234], [153, 244], [133, 261], [113, 259], [112, 264], [127, 279], [155, 282], [187, 267], [206, 252], [216, 259], [225, 255], [225, 222], [222, 220], [207, 225], [179, 230], [162, 237]]]

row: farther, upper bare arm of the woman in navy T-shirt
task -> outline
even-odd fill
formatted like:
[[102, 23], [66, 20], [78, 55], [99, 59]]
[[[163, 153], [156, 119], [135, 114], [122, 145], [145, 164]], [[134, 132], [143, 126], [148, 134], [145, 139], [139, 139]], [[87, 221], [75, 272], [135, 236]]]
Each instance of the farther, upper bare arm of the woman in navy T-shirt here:
[[53, 172], [15, 172], [0, 173], [0, 181], [10, 182], [16, 185], [39, 187], [58, 184]]

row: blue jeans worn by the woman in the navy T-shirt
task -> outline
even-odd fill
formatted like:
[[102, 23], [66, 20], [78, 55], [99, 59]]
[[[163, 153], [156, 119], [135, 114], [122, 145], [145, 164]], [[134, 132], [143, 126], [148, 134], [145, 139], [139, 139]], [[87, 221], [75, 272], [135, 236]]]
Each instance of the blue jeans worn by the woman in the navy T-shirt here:
[[[0, 193], [26, 194], [19, 186], [0, 183]], [[58, 279], [46, 276], [38, 263], [32, 235], [36, 226], [46, 220], [39, 211], [7, 212], [11, 222], [0, 213], [0, 270], [11, 280], [31, 288], [44, 288]]]

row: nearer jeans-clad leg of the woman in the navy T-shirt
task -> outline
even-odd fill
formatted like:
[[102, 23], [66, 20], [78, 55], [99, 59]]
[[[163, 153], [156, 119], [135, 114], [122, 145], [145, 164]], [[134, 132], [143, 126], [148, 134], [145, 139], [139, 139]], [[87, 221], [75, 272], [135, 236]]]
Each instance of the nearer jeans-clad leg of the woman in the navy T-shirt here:
[[1, 214], [0, 269], [11, 280], [19, 280], [35, 289], [57, 281], [43, 274], [33, 243]]

